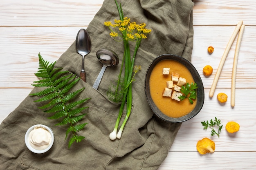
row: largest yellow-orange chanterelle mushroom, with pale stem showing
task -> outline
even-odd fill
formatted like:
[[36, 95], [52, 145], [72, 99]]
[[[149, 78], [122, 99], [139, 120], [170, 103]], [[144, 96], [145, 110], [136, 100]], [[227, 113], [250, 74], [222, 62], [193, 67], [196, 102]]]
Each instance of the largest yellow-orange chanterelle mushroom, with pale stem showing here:
[[202, 140], [198, 141], [198, 143], [196, 144], [196, 149], [202, 155], [209, 152], [214, 152], [215, 143], [211, 139], [205, 137]]

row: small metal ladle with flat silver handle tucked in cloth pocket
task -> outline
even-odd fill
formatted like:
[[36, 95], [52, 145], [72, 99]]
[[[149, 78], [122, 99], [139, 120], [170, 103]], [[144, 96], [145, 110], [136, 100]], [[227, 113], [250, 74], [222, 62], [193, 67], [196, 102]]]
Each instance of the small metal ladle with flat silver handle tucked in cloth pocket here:
[[107, 66], [116, 66], [119, 63], [119, 58], [117, 54], [110, 49], [101, 49], [96, 52], [96, 56], [99, 59], [99, 61], [103, 64], [101, 71], [92, 86], [94, 89], [97, 90]]

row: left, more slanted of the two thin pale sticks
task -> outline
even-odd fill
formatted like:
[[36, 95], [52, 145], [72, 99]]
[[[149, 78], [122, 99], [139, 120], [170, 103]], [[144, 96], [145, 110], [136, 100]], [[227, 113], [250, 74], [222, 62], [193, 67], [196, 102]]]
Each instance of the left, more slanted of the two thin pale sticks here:
[[222, 67], [223, 67], [223, 65], [225, 63], [225, 60], [227, 58], [227, 54], [229, 53], [229, 50], [230, 50], [230, 48], [231, 48], [231, 46], [232, 46], [232, 44], [233, 44], [233, 42], [234, 42], [234, 40], [236, 38], [236, 35], [237, 35], [238, 31], [241, 28], [242, 24], [243, 24], [243, 21], [239, 21], [238, 22], [238, 24], [236, 25], [236, 28], [235, 28], [233, 34], [231, 35], [231, 38], [229, 39], [227, 47], [226, 47], [226, 49], [225, 49], [225, 51], [224, 51], [224, 53], [222, 55], [222, 58], [220, 60], [220, 64], [219, 64], [218, 69], [216, 71], [216, 75], [215, 75], [215, 77], [213, 79], [213, 83], [211, 85], [211, 89], [210, 89], [210, 92], [209, 92], [209, 97], [213, 97], [213, 94], [214, 94], [214, 91], [216, 89], [216, 85], [217, 85], [218, 79], [220, 77], [220, 72], [221, 72]]

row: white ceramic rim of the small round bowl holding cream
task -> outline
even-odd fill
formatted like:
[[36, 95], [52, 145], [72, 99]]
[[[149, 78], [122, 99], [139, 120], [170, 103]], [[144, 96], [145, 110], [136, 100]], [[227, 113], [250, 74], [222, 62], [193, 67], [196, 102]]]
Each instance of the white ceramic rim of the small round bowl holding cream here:
[[[47, 148], [43, 149], [43, 150], [37, 150], [37, 149], [33, 148], [33, 147], [30, 145], [30, 142], [29, 142], [29, 133], [30, 133], [35, 127], [45, 128], [45, 129], [47, 129], [47, 130], [50, 132], [50, 134], [51, 134], [52, 141], [51, 141], [51, 143], [49, 144], [49, 146], [48, 146]], [[52, 148], [53, 143], [54, 143], [54, 132], [52, 131], [51, 128], [49, 128], [48, 126], [42, 125], [42, 124], [37, 124], [37, 125], [31, 126], [31, 127], [27, 130], [27, 132], [26, 132], [26, 134], [25, 134], [25, 144], [26, 144], [27, 148], [28, 148], [31, 152], [34, 152], [34, 153], [40, 154], [40, 153], [45, 153], [45, 152], [47, 152], [50, 148]]]

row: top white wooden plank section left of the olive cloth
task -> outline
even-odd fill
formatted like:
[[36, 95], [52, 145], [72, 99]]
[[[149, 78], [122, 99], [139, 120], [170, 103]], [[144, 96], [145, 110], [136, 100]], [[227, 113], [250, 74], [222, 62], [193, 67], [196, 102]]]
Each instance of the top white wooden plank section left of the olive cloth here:
[[103, 0], [2, 0], [0, 26], [84, 26], [102, 3]]

